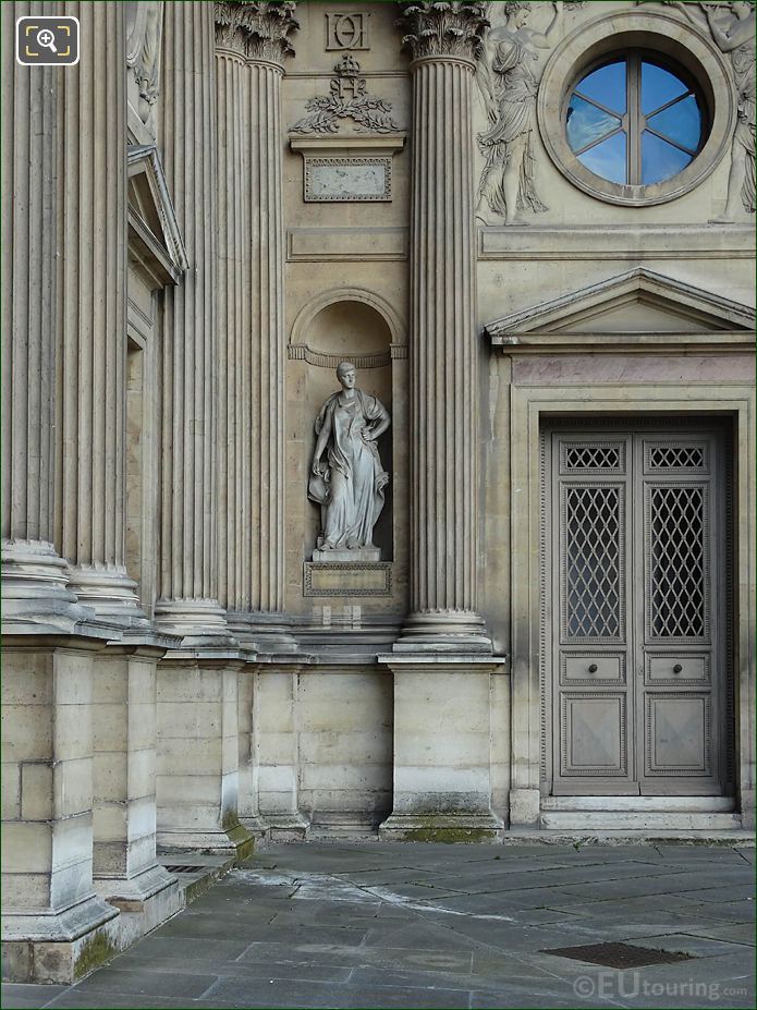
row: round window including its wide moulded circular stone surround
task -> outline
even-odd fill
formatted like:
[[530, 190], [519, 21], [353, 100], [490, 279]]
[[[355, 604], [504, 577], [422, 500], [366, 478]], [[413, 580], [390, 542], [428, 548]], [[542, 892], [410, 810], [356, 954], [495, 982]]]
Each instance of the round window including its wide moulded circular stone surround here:
[[679, 11], [645, 3], [589, 16], [545, 65], [541, 139], [555, 168], [597, 199], [622, 207], [676, 199], [730, 150], [730, 74], [718, 46]]

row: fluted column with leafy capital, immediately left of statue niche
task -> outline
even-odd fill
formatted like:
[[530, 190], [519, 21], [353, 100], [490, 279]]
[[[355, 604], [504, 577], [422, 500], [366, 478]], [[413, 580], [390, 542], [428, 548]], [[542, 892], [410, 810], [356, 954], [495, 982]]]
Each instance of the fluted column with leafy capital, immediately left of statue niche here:
[[[281, 78], [292, 2], [216, 4], [221, 390], [220, 596], [243, 642], [288, 647]], [[225, 384], [225, 385], [224, 385]]]

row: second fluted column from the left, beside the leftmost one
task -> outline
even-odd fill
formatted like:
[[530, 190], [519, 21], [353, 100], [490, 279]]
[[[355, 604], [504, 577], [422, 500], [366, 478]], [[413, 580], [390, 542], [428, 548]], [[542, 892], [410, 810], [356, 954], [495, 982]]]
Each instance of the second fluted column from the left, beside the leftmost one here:
[[61, 72], [60, 541], [80, 600], [138, 619], [124, 565], [126, 98], [124, 9], [68, 3], [81, 60]]

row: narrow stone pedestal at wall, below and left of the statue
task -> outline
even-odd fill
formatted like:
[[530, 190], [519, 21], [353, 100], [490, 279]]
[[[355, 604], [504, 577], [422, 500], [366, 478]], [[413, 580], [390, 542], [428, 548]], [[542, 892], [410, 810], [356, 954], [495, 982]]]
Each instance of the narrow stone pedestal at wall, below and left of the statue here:
[[298, 810], [298, 667], [258, 666], [253, 698], [258, 814], [273, 839], [304, 838]]

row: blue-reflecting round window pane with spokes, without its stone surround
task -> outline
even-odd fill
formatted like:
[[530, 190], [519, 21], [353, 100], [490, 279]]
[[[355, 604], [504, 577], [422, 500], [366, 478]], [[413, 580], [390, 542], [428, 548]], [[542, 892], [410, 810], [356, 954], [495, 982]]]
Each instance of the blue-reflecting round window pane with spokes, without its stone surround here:
[[575, 157], [619, 185], [649, 186], [682, 172], [707, 139], [706, 106], [688, 75], [643, 52], [582, 76], [565, 109]]

